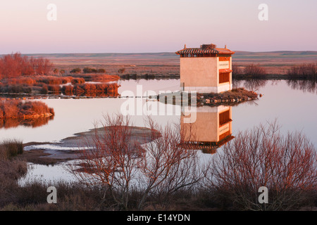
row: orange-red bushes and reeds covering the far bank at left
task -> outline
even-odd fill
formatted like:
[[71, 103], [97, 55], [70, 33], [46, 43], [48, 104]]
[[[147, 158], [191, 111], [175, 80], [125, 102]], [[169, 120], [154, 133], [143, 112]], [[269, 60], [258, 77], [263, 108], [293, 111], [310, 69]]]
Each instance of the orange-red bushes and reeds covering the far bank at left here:
[[[106, 83], [118, 81], [120, 77], [106, 75], [106, 70], [102, 68], [75, 68], [70, 71], [71, 76], [65, 76], [65, 70], [53, 70], [52, 67], [53, 64], [45, 58], [21, 56], [20, 53], [3, 56], [0, 58], [0, 93], [118, 95], [118, 84]], [[65, 85], [68, 87], [63, 87]]]

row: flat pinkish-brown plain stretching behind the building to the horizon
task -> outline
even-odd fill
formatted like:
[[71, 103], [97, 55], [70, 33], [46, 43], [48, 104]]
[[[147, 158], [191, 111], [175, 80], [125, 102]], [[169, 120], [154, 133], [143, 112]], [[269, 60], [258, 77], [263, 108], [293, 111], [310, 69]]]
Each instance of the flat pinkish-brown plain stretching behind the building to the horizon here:
[[[73, 68], [104, 68], [107, 74], [118, 75], [160, 75], [161, 77], [179, 77], [180, 56], [174, 52], [163, 53], [56, 53], [27, 54], [42, 56], [54, 63], [55, 68], [66, 70]], [[266, 69], [269, 75], [285, 75], [294, 65], [317, 63], [317, 51], [235, 51], [232, 63], [245, 66], [256, 63]]]

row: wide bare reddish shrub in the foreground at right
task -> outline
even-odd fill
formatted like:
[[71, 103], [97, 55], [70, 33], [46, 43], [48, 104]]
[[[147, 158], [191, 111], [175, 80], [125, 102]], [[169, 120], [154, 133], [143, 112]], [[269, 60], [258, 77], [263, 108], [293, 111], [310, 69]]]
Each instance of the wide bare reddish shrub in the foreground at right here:
[[[292, 210], [317, 188], [316, 149], [299, 132], [282, 136], [276, 122], [238, 134], [211, 168], [211, 193], [238, 210]], [[261, 186], [268, 204], [258, 202]]]

